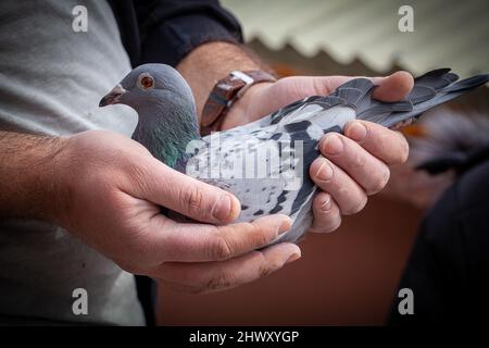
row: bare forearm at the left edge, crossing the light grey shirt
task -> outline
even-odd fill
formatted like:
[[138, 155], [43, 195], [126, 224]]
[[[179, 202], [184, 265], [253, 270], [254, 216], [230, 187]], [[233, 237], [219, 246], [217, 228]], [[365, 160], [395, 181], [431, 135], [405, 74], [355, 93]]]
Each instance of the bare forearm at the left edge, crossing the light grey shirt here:
[[62, 138], [0, 132], [0, 217], [52, 220]]

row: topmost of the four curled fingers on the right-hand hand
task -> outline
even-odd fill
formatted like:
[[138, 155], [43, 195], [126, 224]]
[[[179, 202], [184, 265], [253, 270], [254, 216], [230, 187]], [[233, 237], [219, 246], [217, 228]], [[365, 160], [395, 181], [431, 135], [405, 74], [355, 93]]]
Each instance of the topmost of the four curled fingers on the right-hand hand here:
[[389, 165], [408, 159], [410, 147], [404, 136], [379, 124], [355, 120], [344, 126], [344, 135]]

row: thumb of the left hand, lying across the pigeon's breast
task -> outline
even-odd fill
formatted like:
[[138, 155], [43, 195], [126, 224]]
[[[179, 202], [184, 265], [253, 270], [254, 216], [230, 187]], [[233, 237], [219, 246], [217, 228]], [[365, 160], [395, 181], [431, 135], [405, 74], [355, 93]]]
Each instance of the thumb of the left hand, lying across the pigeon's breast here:
[[195, 179], [148, 159], [131, 178], [134, 195], [200, 222], [229, 223], [241, 210], [238, 199], [225, 190]]

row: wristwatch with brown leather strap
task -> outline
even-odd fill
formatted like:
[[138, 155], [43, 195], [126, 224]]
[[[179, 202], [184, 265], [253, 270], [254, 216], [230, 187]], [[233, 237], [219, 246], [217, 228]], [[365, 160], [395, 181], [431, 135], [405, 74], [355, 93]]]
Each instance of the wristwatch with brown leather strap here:
[[244, 92], [253, 85], [265, 82], [276, 82], [271, 74], [261, 71], [234, 71], [228, 76], [220, 79], [215, 84], [209, 99], [204, 104], [200, 123], [200, 133], [202, 136], [211, 132], [218, 130], [233, 103], [241, 98]]

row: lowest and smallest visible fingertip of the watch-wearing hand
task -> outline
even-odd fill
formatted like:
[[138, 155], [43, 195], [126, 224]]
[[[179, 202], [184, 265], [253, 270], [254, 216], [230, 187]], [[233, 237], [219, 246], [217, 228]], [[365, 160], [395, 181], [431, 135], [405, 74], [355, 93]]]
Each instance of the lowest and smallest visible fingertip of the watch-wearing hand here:
[[341, 224], [338, 204], [327, 192], [318, 192], [313, 200], [314, 221], [311, 232], [328, 233], [337, 229]]

